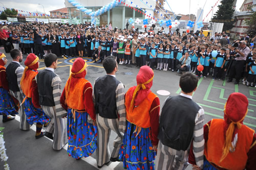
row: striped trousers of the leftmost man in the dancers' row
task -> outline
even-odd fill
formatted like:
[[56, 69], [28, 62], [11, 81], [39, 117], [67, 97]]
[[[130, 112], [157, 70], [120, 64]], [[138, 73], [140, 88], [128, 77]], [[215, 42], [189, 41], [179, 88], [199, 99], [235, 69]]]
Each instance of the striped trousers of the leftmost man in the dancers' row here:
[[[12, 96], [14, 96], [14, 98], [16, 98], [18, 100], [19, 104], [22, 103], [23, 97], [22, 97], [22, 93], [20, 93], [20, 91], [10, 90], [10, 93]], [[24, 131], [30, 130], [30, 125], [27, 122], [27, 116], [26, 116], [25, 110], [24, 110], [24, 104], [22, 106], [20, 106], [20, 108], [18, 110], [18, 115], [20, 116], [19, 129], [24, 130]]]

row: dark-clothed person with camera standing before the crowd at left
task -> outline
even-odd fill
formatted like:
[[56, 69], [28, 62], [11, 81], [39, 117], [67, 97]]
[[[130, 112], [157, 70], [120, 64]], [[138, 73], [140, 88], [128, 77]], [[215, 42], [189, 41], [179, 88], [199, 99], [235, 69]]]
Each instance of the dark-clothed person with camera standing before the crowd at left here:
[[42, 50], [42, 35], [39, 34], [39, 28], [33, 28], [32, 39], [34, 39], [35, 55], [41, 55], [41, 59], [44, 59], [44, 51]]

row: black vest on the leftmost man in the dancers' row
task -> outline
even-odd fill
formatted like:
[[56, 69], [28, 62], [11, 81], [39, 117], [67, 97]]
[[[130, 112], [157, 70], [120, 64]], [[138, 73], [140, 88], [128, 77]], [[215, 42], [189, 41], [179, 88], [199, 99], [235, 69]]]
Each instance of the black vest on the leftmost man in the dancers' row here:
[[12, 90], [12, 91], [19, 91], [17, 75], [15, 74], [15, 71], [19, 66], [20, 65], [18, 63], [11, 62], [6, 67], [6, 77], [7, 77], [7, 80], [8, 80], [8, 86], [9, 86], [9, 89]]

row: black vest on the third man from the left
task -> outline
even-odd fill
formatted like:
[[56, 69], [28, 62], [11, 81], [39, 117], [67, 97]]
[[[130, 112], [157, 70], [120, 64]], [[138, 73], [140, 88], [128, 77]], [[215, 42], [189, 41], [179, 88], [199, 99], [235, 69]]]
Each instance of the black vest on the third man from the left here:
[[120, 82], [113, 76], [98, 78], [94, 85], [95, 110], [101, 117], [118, 118], [116, 107], [116, 87]]

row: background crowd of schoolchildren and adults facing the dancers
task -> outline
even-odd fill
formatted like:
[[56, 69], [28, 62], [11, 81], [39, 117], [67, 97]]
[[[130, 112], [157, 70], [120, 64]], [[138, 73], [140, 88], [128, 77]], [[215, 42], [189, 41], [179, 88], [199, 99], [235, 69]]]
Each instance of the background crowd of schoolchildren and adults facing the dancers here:
[[[111, 25], [111, 23], [110, 23]], [[148, 65], [152, 69], [191, 71], [198, 77], [212, 76], [212, 79], [228, 81], [247, 86], [255, 84], [256, 35], [249, 39], [247, 34], [230, 44], [228, 36], [215, 33], [205, 36], [203, 31], [182, 33], [135, 29], [109, 30], [108, 27], [56, 24], [23, 24], [4, 26], [0, 39], [6, 53], [20, 49], [23, 54], [34, 53], [41, 59], [48, 53], [66, 58], [89, 57], [102, 62], [106, 56], [114, 56], [118, 64]], [[11, 45], [13, 44], [13, 45]], [[216, 51], [217, 55], [212, 55]], [[215, 52], [214, 52], [215, 53]], [[216, 54], [216, 53], [215, 53]], [[203, 66], [203, 71], [197, 67]]]

